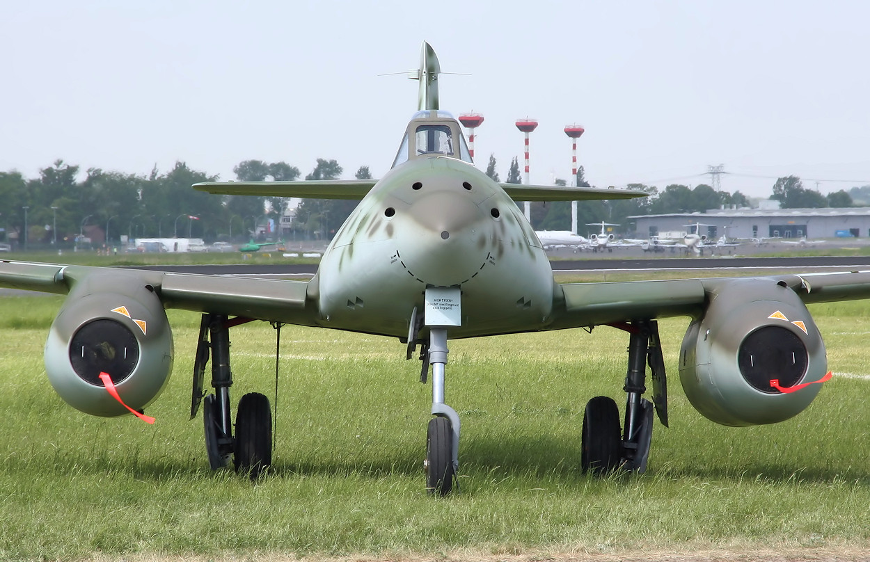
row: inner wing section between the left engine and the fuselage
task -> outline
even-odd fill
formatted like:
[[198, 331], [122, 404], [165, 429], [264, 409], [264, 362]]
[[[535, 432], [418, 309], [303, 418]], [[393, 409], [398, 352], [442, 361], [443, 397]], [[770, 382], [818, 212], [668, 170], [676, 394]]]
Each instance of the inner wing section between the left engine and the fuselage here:
[[160, 296], [167, 308], [314, 325], [308, 281], [166, 273]]

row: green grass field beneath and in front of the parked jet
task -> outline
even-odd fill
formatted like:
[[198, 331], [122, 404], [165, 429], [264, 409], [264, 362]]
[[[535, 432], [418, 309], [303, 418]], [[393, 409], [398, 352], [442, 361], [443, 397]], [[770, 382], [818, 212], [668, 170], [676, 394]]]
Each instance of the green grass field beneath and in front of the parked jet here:
[[[0, 559], [550, 559], [639, 552], [870, 550], [870, 304], [816, 305], [835, 378], [783, 424], [714, 425], [676, 368], [686, 319], [661, 323], [671, 429], [649, 470], [579, 470], [588, 398], [624, 404], [627, 338], [599, 328], [451, 342], [459, 493], [425, 493], [431, 388], [398, 341], [284, 327], [274, 470], [211, 472], [189, 421], [199, 318], [170, 311], [176, 365], [136, 418], [64, 405], [42, 348], [62, 300], [0, 298]], [[275, 334], [234, 328], [231, 388], [272, 394]], [[803, 553], [803, 554], [802, 554]]]

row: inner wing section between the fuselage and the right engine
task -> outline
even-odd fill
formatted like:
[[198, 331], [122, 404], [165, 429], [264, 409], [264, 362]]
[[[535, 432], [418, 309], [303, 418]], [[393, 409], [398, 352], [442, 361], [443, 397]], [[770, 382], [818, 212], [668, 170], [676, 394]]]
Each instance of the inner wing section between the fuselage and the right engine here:
[[642, 318], [693, 316], [704, 302], [699, 279], [557, 284], [562, 302], [550, 329], [612, 324]]

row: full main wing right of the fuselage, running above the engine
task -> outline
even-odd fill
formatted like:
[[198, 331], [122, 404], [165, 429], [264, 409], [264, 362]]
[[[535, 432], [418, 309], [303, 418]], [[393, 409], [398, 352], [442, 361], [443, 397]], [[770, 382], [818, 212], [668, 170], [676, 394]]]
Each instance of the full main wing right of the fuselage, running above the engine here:
[[[703, 278], [614, 283], [558, 284], [551, 330], [619, 324], [638, 319], [698, 318], [713, 298], [726, 292], [735, 302], [752, 303], [747, 288], [790, 289], [804, 304], [870, 298], [870, 271], [807, 273], [765, 278]], [[728, 297], [725, 297], [728, 298]], [[768, 300], [766, 290], [755, 301]], [[773, 311], [772, 311], [773, 312]]]

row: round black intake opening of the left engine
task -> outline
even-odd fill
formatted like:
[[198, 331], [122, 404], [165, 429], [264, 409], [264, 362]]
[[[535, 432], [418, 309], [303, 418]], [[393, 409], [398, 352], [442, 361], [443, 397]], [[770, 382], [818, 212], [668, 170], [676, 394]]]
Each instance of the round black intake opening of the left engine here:
[[116, 385], [130, 377], [139, 363], [139, 345], [124, 324], [98, 319], [84, 324], [70, 340], [70, 365], [79, 378], [104, 386], [100, 373]]

